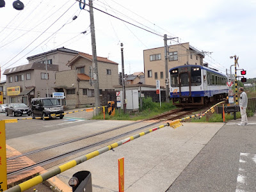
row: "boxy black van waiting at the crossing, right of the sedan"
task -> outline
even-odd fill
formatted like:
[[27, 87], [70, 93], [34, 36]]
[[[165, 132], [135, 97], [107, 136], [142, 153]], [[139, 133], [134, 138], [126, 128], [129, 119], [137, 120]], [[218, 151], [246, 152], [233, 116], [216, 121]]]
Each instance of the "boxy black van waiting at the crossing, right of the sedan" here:
[[[31, 115], [40, 116], [43, 120], [51, 118], [52, 114], [63, 118], [63, 107], [56, 98], [35, 98], [31, 100]], [[49, 117], [49, 118], [45, 118]]]

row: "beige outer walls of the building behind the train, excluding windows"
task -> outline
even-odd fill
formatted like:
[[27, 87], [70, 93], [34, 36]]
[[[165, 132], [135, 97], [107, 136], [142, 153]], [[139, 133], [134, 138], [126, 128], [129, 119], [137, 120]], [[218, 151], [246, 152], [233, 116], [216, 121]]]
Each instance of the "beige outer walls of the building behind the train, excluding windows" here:
[[[169, 61], [168, 60], [168, 70], [173, 67], [177, 67], [180, 65], [184, 65], [185, 63], [189, 63], [190, 65], [200, 65], [200, 56], [199, 54], [195, 54], [195, 52], [191, 52], [189, 50], [189, 43], [185, 43], [182, 45], [171, 45], [169, 48], [169, 52], [177, 51], [178, 60]], [[190, 58], [190, 54], [192, 53], [192, 59]], [[150, 61], [150, 55], [152, 54], [161, 54], [161, 60]], [[196, 56], [198, 60], [196, 60]], [[155, 49], [147, 49], [143, 51], [144, 57], [144, 73], [145, 73], [145, 84], [156, 85], [156, 80], [160, 80], [160, 85], [165, 86], [165, 62], [164, 62], [164, 47], [159, 47]], [[152, 77], [148, 77], [148, 70], [152, 70]], [[157, 72], [157, 79], [155, 79], [155, 72]], [[161, 79], [161, 72], [163, 72], [163, 79]]]

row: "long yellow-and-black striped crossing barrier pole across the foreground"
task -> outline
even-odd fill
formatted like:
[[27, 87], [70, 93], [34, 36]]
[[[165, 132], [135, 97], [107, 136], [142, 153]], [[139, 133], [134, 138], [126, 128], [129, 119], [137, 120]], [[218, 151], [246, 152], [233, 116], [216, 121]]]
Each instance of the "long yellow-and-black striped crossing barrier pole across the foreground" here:
[[83, 163], [84, 161], [88, 161], [89, 159], [92, 159], [93, 157], [99, 156], [100, 154], [103, 154], [104, 152], [108, 152], [109, 150], [113, 150], [113, 148], [119, 147], [120, 145], [124, 145], [125, 143], [128, 143], [129, 141], [135, 140], [137, 138], [140, 138], [141, 136], [144, 136], [145, 134], [148, 134], [150, 132], [157, 131], [158, 129], [161, 129], [163, 127], [172, 127], [173, 129], [179, 127], [182, 121], [188, 120], [189, 118], [195, 118], [199, 117], [202, 118], [205, 114], [209, 113], [214, 113], [214, 107], [218, 106], [219, 104], [224, 103], [219, 102], [218, 104], [212, 106], [210, 109], [205, 111], [203, 114], [198, 114], [198, 115], [192, 115], [192, 116], [187, 116], [185, 118], [180, 118], [177, 120], [174, 120], [172, 122], [167, 122], [166, 124], [159, 125], [158, 127], [155, 127], [153, 129], [148, 129], [147, 131], [140, 132], [139, 134], [135, 134], [133, 136], [130, 136], [128, 138], [125, 138], [124, 140], [117, 141], [116, 143], [112, 143], [111, 145], [108, 145], [106, 147], [100, 148], [99, 150], [95, 150], [89, 154], [86, 154], [81, 157], [77, 157], [76, 159], [69, 161], [68, 163], [62, 164], [61, 166], [58, 166], [56, 168], [53, 168], [52, 170], [49, 170], [46, 173], [42, 173], [42, 175], [38, 175], [32, 179], [26, 180], [25, 182], [22, 182], [21, 184], [18, 184], [17, 186], [14, 186], [10, 189], [7, 189], [6, 192], [21, 192], [25, 191], [29, 188], [32, 188], [33, 186], [36, 186], [37, 184], [40, 184], [44, 182], [47, 179], [50, 179], [51, 177], [54, 177], [55, 175], [58, 175], [62, 172], [65, 172], [66, 170], [76, 166], [77, 164]]

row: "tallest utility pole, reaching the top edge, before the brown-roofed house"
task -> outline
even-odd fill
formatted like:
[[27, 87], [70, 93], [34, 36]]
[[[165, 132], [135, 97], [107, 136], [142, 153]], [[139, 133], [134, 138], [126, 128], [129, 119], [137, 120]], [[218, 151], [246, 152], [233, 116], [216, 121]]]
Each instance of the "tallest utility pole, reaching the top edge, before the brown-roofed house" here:
[[99, 76], [98, 76], [98, 64], [97, 64], [97, 52], [96, 52], [96, 40], [95, 40], [95, 27], [93, 19], [93, 4], [92, 0], [89, 0], [90, 6], [90, 28], [91, 28], [91, 38], [92, 38], [92, 67], [93, 67], [93, 86], [94, 86], [94, 98], [96, 115], [99, 114], [100, 106], [100, 92], [99, 92]]

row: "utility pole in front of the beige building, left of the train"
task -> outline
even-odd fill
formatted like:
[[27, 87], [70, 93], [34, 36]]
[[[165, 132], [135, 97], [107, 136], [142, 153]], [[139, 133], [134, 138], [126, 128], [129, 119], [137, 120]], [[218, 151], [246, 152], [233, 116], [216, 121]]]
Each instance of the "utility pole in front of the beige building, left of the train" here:
[[[167, 45], [167, 40], [172, 40], [177, 37], [171, 37], [167, 38], [167, 35], [164, 35], [164, 61], [165, 61], [165, 97], [166, 97], [166, 102], [169, 102], [169, 71], [168, 71], [168, 52], [169, 52], [169, 46]], [[160, 89], [161, 92], [161, 89]]]

